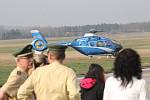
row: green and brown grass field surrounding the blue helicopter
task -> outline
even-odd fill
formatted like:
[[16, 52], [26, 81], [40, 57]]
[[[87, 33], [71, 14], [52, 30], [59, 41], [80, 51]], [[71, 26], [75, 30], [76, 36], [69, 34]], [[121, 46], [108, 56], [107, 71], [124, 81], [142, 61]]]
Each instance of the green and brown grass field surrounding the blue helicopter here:
[[[127, 33], [127, 34], [99, 34], [119, 41], [124, 48], [133, 48], [141, 55], [142, 65], [150, 65], [150, 33]], [[57, 41], [71, 41], [76, 37], [61, 37], [61, 38], [49, 38], [49, 43], [55, 43]], [[12, 53], [17, 48], [31, 43], [32, 39], [23, 40], [1, 40], [0, 41], [0, 84], [4, 84], [7, 80], [10, 72], [15, 67], [14, 57]], [[64, 64], [73, 68], [78, 75], [85, 74], [88, 70], [88, 66], [91, 63], [98, 63], [102, 65], [106, 72], [110, 72], [113, 66], [114, 58], [106, 58], [103, 56], [97, 56], [89, 58], [80, 54], [72, 48], [67, 49], [66, 60]]]

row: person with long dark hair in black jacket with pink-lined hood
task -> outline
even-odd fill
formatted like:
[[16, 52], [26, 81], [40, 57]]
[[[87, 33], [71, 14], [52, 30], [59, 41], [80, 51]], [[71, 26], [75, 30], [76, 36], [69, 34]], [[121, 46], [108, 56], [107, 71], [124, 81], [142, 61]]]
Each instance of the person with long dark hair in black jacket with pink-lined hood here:
[[104, 86], [104, 69], [91, 64], [85, 78], [80, 80], [81, 100], [103, 100]]

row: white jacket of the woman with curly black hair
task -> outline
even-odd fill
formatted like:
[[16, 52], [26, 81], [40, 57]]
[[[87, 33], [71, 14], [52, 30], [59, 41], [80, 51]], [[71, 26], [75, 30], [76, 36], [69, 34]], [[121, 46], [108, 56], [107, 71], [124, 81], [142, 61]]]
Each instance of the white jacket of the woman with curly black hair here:
[[110, 77], [106, 80], [104, 100], [149, 100], [144, 79], [133, 78], [133, 83], [122, 87], [121, 80]]

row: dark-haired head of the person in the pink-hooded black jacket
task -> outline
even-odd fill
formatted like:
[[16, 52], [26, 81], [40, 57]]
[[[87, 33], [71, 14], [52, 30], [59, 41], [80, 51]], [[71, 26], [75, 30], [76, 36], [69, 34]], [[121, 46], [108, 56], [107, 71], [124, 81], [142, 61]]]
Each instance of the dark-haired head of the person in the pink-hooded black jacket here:
[[99, 64], [91, 64], [85, 78], [95, 78], [97, 82], [105, 83], [103, 67]]

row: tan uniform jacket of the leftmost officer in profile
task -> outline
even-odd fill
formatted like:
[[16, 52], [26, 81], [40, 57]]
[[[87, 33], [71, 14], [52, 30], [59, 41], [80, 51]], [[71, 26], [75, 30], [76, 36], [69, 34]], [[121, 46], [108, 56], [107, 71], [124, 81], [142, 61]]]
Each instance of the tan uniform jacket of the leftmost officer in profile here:
[[7, 82], [2, 86], [2, 90], [7, 93], [9, 100], [17, 100], [17, 92], [20, 87], [27, 79], [28, 74], [22, 71], [19, 67], [16, 67], [11, 74]]

